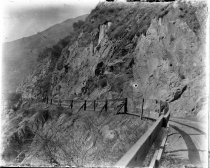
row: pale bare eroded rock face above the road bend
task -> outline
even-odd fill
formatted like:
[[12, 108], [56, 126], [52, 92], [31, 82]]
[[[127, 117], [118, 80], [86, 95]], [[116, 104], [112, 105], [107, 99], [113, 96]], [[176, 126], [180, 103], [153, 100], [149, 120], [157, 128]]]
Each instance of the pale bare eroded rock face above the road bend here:
[[[204, 73], [205, 56], [199, 26], [190, 27], [180, 17], [180, 8], [172, 6], [166, 16], [152, 20], [146, 36], [138, 40], [133, 69], [139, 92], [145, 91], [146, 98], [171, 102], [172, 114], [178, 116], [190, 113], [192, 97], [202, 97], [203, 84], [196, 82], [196, 77]], [[196, 82], [199, 93], [189, 95], [194, 90], [190, 81]]]

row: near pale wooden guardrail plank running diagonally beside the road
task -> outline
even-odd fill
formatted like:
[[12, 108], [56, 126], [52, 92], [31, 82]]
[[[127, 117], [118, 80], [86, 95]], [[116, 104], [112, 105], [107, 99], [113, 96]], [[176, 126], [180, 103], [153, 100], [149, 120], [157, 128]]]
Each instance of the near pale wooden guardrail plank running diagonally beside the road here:
[[170, 113], [161, 115], [147, 132], [125, 153], [114, 167], [141, 167], [162, 127], [166, 127]]

